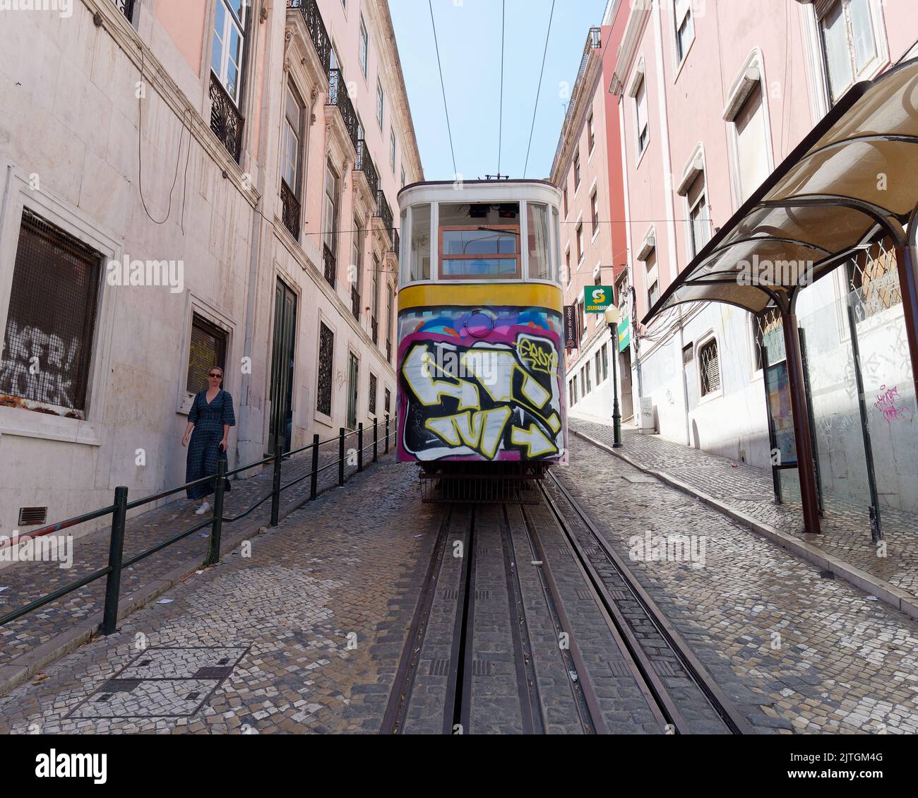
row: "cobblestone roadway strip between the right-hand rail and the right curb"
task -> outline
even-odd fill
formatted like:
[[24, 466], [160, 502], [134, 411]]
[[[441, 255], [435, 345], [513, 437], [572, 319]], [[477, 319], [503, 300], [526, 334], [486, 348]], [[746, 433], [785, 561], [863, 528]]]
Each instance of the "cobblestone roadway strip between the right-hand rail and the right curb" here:
[[[912, 618], [596, 446], [570, 453], [560, 478], [757, 730], [918, 732]], [[634, 560], [648, 533], [702, 536], [703, 566]]]

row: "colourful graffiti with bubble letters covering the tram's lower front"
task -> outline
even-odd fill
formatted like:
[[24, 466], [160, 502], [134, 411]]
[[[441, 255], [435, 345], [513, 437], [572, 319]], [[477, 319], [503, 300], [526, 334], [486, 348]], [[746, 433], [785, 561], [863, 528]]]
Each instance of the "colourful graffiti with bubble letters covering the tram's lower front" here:
[[441, 309], [400, 322], [413, 327], [399, 346], [402, 459], [564, 459], [560, 315]]

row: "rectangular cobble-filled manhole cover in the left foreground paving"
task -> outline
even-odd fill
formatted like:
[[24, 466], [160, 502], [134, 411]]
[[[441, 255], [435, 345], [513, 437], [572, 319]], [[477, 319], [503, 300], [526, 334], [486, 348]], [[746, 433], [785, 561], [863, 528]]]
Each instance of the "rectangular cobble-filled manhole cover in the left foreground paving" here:
[[102, 682], [67, 717], [191, 717], [248, 651], [248, 646], [148, 648]]

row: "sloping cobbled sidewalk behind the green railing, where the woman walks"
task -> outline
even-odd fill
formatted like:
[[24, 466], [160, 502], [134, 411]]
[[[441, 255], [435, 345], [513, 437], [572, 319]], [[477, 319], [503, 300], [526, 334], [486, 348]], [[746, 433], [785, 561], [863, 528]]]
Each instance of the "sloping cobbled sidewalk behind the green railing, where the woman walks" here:
[[[357, 437], [352, 435], [347, 439], [347, 446], [355, 446]], [[392, 440], [390, 439], [390, 443]], [[373, 432], [364, 430], [364, 447], [369, 446], [364, 452], [364, 466], [372, 466], [373, 459]], [[378, 453], [383, 456], [384, 444], [379, 440]], [[389, 458], [394, 458], [394, 450], [390, 448]], [[338, 460], [338, 445], [336, 443], [319, 447], [318, 477], [319, 491], [328, 489], [337, 484], [338, 468], [329, 466]], [[329, 466], [329, 467], [325, 467]], [[310, 451], [302, 455], [294, 455], [283, 461], [281, 468], [282, 484], [287, 484], [292, 479], [302, 477], [312, 468]], [[356, 465], [345, 466], [345, 478], [350, 478], [356, 472]], [[250, 472], [251, 473], [251, 472]], [[226, 494], [224, 515], [236, 515], [247, 510], [252, 504], [271, 491], [272, 469], [269, 464], [264, 472], [248, 479], [233, 480], [232, 489]], [[309, 496], [309, 479], [306, 478], [297, 485], [282, 491], [281, 516], [290, 511], [297, 504], [307, 500]], [[141, 497], [130, 496], [129, 500]], [[129, 518], [125, 530], [124, 556], [140, 554], [140, 552], [162, 543], [175, 534], [205, 520], [202, 516], [195, 515], [196, 502], [182, 499], [172, 501], [155, 510], [143, 512]], [[257, 530], [268, 523], [271, 517], [271, 501], [268, 500], [251, 515], [246, 516], [236, 523], [224, 524], [223, 535], [226, 538], [233, 534], [235, 529], [244, 524]], [[69, 532], [69, 530], [68, 530]], [[203, 560], [207, 552], [209, 527], [200, 532], [191, 534], [185, 540], [167, 546], [148, 558], [141, 560], [130, 568], [125, 568], [121, 574], [121, 596], [127, 596], [141, 585], [158, 579], [172, 568], [176, 568], [188, 560], [200, 558]], [[9, 613], [29, 601], [34, 601], [53, 590], [75, 582], [99, 568], [108, 564], [108, 539], [109, 529], [99, 529], [95, 532], [76, 538], [73, 541], [73, 567], [60, 568], [57, 562], [16, 562], [10, 563], [6, 568], [0, 569], [0, 615]], [[35, 646], [50, 640], [54, 635], [69, 629], [74, 622], [81, 621], [102, 609], [105, 599], [106, 580], [97, 579], [80, 590], [75, 590], [59, 601], [47, 604], [37, 613], [0, 626], [0, 667], [7, 665], [11, 660], [28, 652]]]

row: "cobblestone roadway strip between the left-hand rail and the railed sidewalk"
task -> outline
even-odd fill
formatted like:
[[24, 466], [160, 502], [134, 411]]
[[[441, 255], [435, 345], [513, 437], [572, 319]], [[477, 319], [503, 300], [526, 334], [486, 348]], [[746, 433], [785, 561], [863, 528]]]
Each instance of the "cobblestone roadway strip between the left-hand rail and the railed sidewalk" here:
[[0, 733], [375, 731], [439, 524], [418, 491], [387, 460], [309, 502], [10, 691]]

